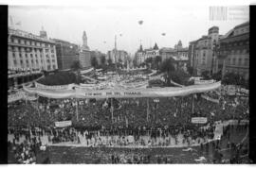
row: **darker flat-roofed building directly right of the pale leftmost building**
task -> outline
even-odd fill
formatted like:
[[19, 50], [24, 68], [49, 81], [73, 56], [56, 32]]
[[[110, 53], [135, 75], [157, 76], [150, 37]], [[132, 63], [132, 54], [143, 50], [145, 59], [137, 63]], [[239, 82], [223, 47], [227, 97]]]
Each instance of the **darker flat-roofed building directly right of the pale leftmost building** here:
[[56, 42], [56, 54], [59, 70], [70, 69], [75, 60], [79, 60], [78, 44], [52, 39]]

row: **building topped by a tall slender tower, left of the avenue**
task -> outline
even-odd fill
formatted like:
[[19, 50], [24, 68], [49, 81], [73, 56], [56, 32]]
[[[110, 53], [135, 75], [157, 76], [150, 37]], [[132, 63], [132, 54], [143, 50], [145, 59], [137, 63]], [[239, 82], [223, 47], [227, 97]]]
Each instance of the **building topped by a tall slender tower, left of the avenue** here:
[[83, 31], [82, 35], [82, 47], [80, 47], [79, 60], [82, 67], [91, 66], [91, 52], [90, 48], [87, 45], [87, 35], [85, 31]]

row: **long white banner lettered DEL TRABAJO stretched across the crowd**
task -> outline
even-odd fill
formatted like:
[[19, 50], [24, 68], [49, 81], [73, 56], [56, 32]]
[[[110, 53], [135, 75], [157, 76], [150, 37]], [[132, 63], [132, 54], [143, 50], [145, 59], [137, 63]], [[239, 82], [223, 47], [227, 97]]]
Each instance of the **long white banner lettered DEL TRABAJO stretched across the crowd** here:
[[49, 98], [122, 98], [122, 97], [168, 97], [188, 95], [191, 93], [205, 93], [215, 90], [221, 86], [220, 82], [192, 85], [187, 87], [147, 88], [147, 89], [108, 89], [88, 90], [76, 87], [72, 90], [49, 90], [24, 86], [27, 93], [37, 93]]

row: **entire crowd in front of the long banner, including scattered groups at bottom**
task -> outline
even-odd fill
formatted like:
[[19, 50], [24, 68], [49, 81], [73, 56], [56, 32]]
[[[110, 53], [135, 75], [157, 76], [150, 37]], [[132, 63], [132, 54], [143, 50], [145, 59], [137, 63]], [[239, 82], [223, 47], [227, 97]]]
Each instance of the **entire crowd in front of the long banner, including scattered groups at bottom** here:
[[[39, 96], [36, 100], [18, 100], [9, 103], [9, 134], [14, 135], [9, 145], [21, 163], [35, 162], [36, 149], [40, 149], [42, 143], [88, 147], [205, 146], [214, 138], [216, 121], [248, 120], [247, 96], [230, 96], [219, 91], [204, 94], [217, 99], [218, 103], [202, 97], [201, 93], [169, 98], [49, 99]], [[192, 117], [206, 117], [207, 123], [192, 124]], [[71, 121], [72, 126], [55, 126], [55, 122], [62, 121]], [[223, 133], [229, 136], [229, 129], [224, 128]], [[243, 149], [235, 145], [230, 148], [234, 152]], [[215, 150], [219, 151], [217, 145]], [[150, 161], [143, 155], [123, 159], [113, 154], [111, 158], [112, 163]], [[157, 163], [170, 162], [165, 157], [158, 159]], [[234, 161], [239, 161], [235, 155]]]

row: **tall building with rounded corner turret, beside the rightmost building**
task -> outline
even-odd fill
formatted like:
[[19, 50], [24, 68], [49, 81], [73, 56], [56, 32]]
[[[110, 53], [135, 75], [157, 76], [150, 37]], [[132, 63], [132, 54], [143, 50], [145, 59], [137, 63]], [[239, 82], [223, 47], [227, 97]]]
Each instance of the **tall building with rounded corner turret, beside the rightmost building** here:
[[212, 26], [208, 31], [208, 35], [202, 36], [199, 40], [191, 42], [191, 51], [189, 58], [191, 59], [194, 72], [200, 76], [204, 71], [214, 72], [214, 62], [216, 60], [215, 47], [218, 45], [219, 27]]

